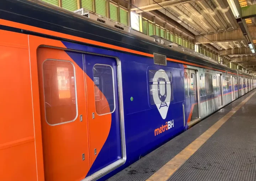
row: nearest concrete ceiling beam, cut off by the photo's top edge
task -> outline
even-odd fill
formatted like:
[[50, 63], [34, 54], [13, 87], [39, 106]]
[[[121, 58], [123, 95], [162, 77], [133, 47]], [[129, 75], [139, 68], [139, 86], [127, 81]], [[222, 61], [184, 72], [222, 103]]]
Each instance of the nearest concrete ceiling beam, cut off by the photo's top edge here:
[[[162, 2], [159, 2], [158, 4], [155, 3], [154, 1], [146, 1], [146, 0], [132, 0], [132, 4], [135, 6], [132, 8], [132, 11], [135, 11], [137, 13], [141, 13], [143, 11], [152, 11], [152, 10], [158, 10], [162, 9], [162, 7], [170, 7], [170, 6], [176, 6], [176, 5], [181, 5], [181, 4], [186, 4], [189, 2], [195, 2], [199, 0], [164, 0]], [[159, 6], [161, 5], [161, 6]], [[141, 9], [141, 10], [139, 10]]]

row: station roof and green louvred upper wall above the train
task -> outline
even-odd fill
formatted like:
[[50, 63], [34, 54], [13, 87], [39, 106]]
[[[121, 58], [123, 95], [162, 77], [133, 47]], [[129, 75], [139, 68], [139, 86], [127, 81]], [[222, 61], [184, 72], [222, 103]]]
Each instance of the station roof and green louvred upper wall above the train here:
[[145, 35], [158, 35], [193, 49], [230, 68], [256, 73], [255, 0], [42, 1], [70, 11], [85, 8]]

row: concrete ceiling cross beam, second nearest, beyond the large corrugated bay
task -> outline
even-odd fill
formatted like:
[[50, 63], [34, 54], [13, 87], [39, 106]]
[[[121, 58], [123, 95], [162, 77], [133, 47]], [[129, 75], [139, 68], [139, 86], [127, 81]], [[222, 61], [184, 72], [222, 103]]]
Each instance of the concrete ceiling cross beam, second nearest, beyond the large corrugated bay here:
[[225, 32], [212, 33], [208, 35], [196, 36], [196, 44], [220, 43], [229, 41], [243, 41], [245, 37], [241, 29], [234, 29]]

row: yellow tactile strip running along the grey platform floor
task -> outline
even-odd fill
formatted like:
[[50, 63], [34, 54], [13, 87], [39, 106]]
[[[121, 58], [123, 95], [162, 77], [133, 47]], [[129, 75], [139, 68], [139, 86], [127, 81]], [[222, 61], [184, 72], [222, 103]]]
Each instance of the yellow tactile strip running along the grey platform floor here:
[[169, 177], [178, 169], [180, 166], [186, 162], [219, 128], [222, 126], [233, 114], [235, 114], [238, 109], [240, 109], [256, 92], [248, 96], [244, 101], [242, 101], [238, 106], [233, 108], [228, 114], [218, 120], [214, 125], [212, 125], [208, 130], [206, 130], [201, 136], [196, 138], [190, 145], [184, 148], [180, 153], [178, 153], [174, 158], [167, 162], [162, 168], [156, 171], [151, 177], [146, 181], [166, 181]]

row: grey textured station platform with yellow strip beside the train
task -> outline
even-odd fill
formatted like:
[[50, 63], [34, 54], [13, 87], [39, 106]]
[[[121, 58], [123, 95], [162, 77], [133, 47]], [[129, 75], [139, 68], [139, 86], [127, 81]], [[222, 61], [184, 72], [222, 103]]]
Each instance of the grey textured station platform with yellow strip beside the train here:
[[108, 181], [255, 181], [256, 90]]

